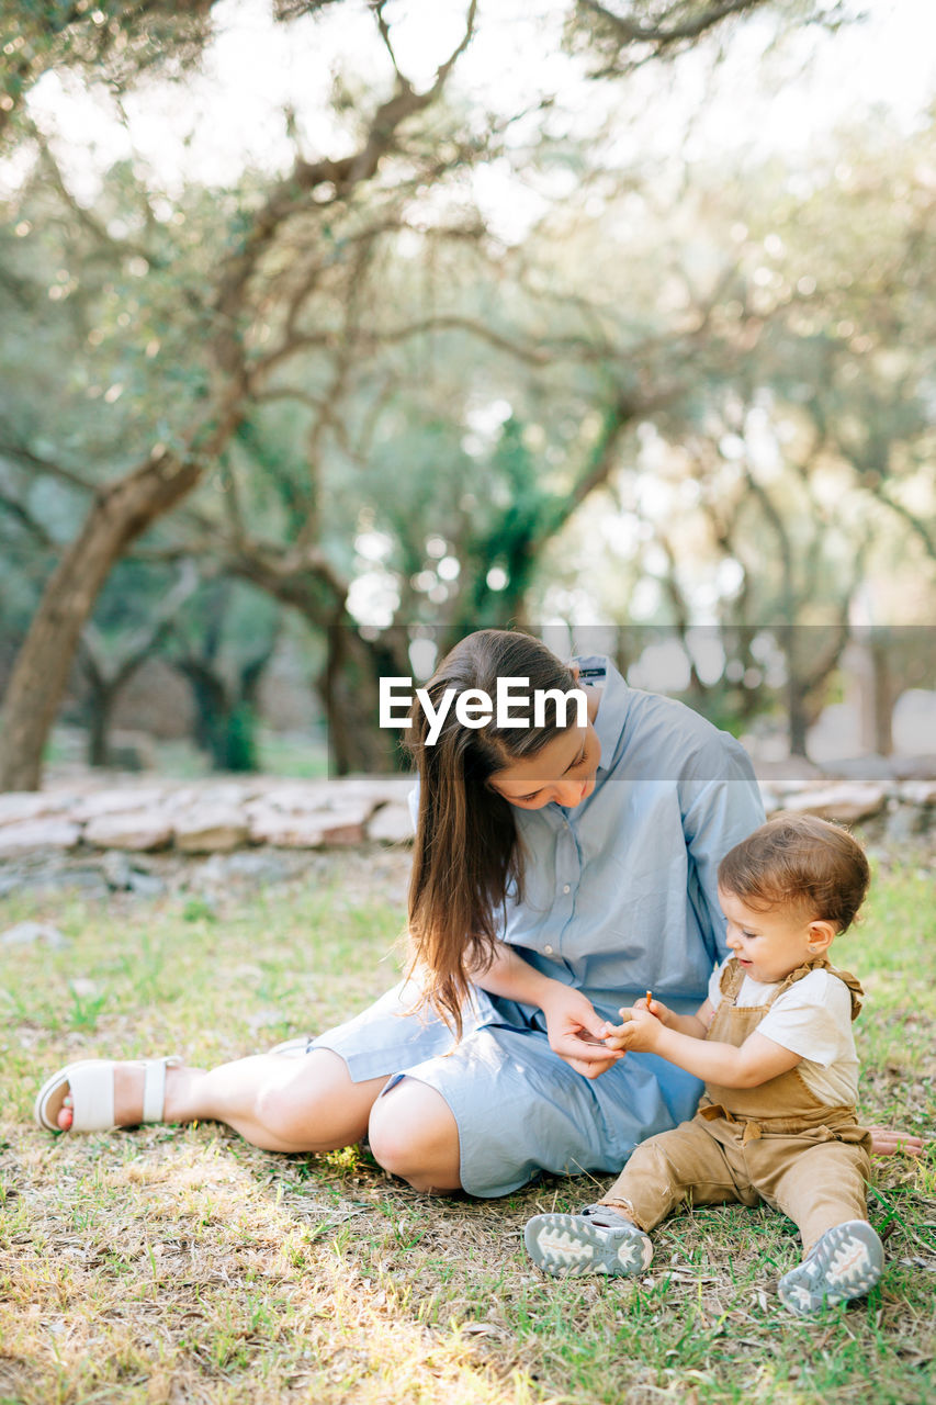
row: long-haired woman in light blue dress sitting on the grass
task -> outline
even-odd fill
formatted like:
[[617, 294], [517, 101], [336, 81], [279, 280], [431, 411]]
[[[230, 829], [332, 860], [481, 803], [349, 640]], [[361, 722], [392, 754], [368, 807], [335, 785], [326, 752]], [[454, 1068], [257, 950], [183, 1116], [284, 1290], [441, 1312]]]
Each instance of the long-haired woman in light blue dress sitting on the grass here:
[[607, 659], [571, 669], [524, 634], [469, 635], [426, 691], [438, 717], [447, 690], [495, 697], [505, 677], [531, 695], [579, 683], [587, 717], [566, 724], [554, 700], [535, 726], [478, 726], [450, 705], [430, 743], [415, 707], [406, 981], [298, 1048], [216, 1069], [70, 1065], [39, 1092], [41, 1125], [214, 1120], [284, 1152], [367, 1137], [417, 1190], [500, 1196], [537, 1170], [617, 1170], [690, 1117], [694, 1078], [599, 1031], [648, 988], [675, 1010], [704, 998], [725, 954], [718, 861], [763, 822], [750, 763]]

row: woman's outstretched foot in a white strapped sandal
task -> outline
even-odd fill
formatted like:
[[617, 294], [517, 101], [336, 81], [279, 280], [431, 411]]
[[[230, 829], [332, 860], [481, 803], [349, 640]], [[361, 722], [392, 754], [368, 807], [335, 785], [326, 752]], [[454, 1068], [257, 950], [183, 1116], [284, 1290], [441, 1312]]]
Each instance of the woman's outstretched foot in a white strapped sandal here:
[[90, 1094], [91, 1107], [91, 1125], [79, 1130], [97, 1131], [101, 1124], [138, 1127], [143, 1121], [183, 1121], [193, 1082], [200, 1075], [201, 1069], [184, 1068], [178, 1059], [84, 1059], [67, 1065], [45, 1083], [37, 1099], [37, 1120], [44, 1127], [70, 1131], [74, 1124], [74, 1082], [82, 1089], [79, 1104], [82, 1099], [89, 1104]]

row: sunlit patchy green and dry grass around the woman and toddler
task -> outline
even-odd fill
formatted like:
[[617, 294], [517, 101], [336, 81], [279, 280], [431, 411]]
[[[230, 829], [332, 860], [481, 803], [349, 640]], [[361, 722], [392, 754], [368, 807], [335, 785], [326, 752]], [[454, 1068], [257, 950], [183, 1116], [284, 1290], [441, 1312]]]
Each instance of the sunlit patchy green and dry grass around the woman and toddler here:
[[[769, 1210], [697, 1210], [639, 1280], [554, 1281], [523, 1250], [587, 1177], [499, 1201], [420, 1196], [360, 1149], [277, 1156], [209, 1124], [84, 1138], [34, 1128], [72, 1058], [208, 1064], [322, 1028], [392, 979], [405, 858], [323, 857], [304, 884], [153, 902], [58, 894], [0, 927], [0, 1405], [911, 1405], [936, 1395], [936, 1156], [876, 1163], [887, 1272], [867, 1300], [788, 1316], [798, 1257]], [[863, 1116], [932, 1128], [932, 868], [878, 863], [836, 958], [860, 972]]]

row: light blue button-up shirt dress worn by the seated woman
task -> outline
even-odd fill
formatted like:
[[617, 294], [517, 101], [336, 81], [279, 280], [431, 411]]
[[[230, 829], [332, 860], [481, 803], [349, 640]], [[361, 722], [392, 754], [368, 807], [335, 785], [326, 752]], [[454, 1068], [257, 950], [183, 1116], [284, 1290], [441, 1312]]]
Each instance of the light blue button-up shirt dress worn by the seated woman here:
[[[706, 999], [725, 955], [721, 857], [763, 823], [739, 743], [691, 708], [627, 686], [603, 656], [576, 660], [600, 687], [594, 791], [580, 805], [516, 809], [526, 847], [523, 902], [507, 895], [502, 939], [538, 971], [578, 986], [603, 1019], [652, 989], [679, 1012]], [[386, 1075], [434, 1087], [461, 1146], [461, 1183], [503, 1196], [540, 1170], [614, 1172], [634, 1146], [691, 1117], [701, 1083], [654, 1054], [628, 1054], [596, 1079], [550, 1048], [538, 1007], [474, 991], [465, 1031], [408, 1013], [398, 985], [315, 1040], [354, 1082]]]

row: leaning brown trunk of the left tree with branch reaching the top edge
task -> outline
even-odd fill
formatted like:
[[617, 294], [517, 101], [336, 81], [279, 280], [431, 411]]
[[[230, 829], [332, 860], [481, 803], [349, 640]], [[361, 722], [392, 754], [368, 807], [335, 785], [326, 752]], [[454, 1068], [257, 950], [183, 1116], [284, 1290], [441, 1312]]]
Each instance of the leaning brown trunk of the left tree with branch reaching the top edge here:
[[[374, 110], [357, 149], [339, 159], [297, 157], [290, 176], [247, 216], [214, 287], [211, 384], [205, 403], [180, 426], [173, 444], [159, 441], [136, 468], [97, 490], [79, 535], [48, 582], [4, 698], [0, 788], [31, 790], [39, 784], [42, 746], [58, 712], [77, 639], [114, 562], [197, 486], [242, 422], [252, 391], [302, 344], [295, 319], [305, 302], [305, 288], [295, 291], [292, 318], [287, 315], [274, 350], [252, 354], [246, 340], [257, 312], [253, 299], [257, 295], [263, 299], [257, 275], [266, 260], [275, 259], [280, 233], [297, 219], [312, 219], [320, 226], [327, 207], [347, 204], [361, 185], [374, 180], [399, 142], [401, 128], [441, 94], [471, 41], [475, 10], [476, 0], [471, 0], [464, 38], [429, 89], [417, 93], [395, 69], [394, 94]], [[382, 6], [375, 14], [386, 35]]]

